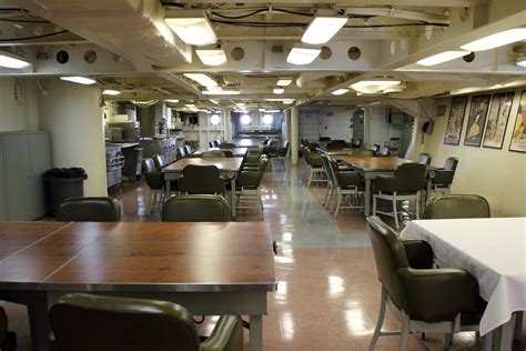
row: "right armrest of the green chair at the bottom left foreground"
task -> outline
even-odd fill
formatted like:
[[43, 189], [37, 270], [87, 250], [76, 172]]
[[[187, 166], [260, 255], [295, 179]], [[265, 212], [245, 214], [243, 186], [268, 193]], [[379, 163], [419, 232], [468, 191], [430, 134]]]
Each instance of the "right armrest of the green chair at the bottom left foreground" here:
[[243, 350], [243, 327], [239, 315], [221, 315], [212, 334], [201, 343], [202, 351]]

